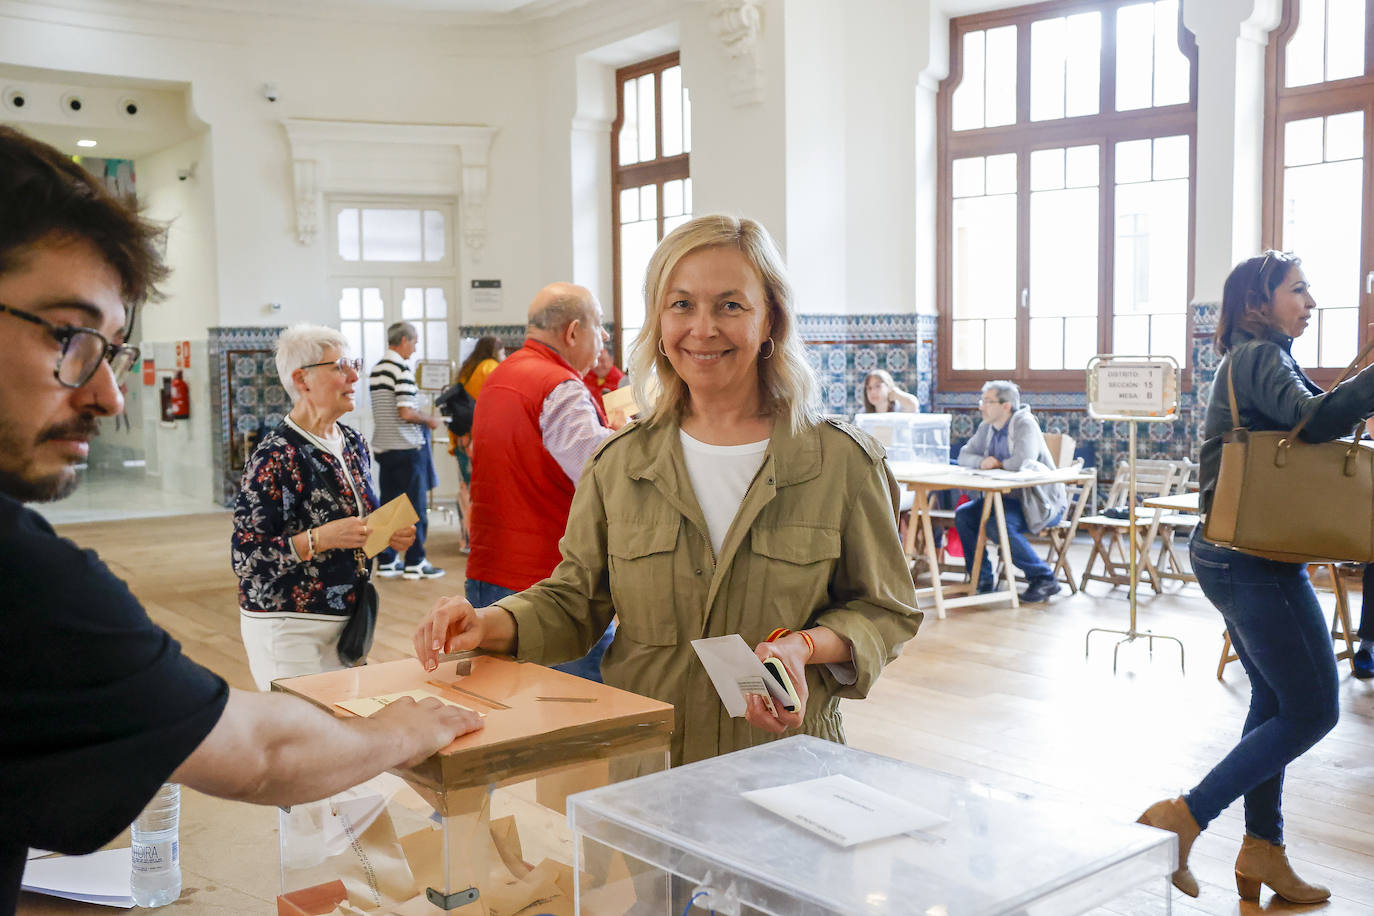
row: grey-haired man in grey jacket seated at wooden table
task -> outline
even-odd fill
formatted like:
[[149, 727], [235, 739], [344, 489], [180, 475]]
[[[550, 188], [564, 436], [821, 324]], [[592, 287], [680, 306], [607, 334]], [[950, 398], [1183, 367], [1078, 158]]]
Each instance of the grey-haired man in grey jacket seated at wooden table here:
[[[959, 449], [959, 466], [974, 470], [1006, 468], [1009, 471], [1048, 471], [1054, 457], [1044, 444], [1040, 424], [1030, 408], [1021, 402], [1021, 390], [1011, 382], [988, 382], [982, 386], [982, 400], [978, 402], [982, 423], [973, 438]], [[973, 564], [974, 544], [978, 538], [978, 519], [982, 518], [984, 497], [965, 503], [954, 514], [954, 526], [963, 544], [965, 563]], [[1044, 602], [1059, 591], [1050, 564], [1040, 559], [1026, 540], [1026, 534], [1041, 531], [1059, 523], [1069, 497], [1063, 483], [1041, 483], [1015, 490], [1002, 497], [1007, 518], [1007, 540], [1011, 547], [1011, 562], [1021, 570], [1029, 586], [1021, 595], [1022, 602]], [[995, 588], [992, 563], [988, 553], [998, 544], [998, 520], [988, 515], [988, 547], [982, 552], [982, 564], [977, 570], [978, 595], [987, 595]], [[974, 570], [969, 570], [971, 577]]]

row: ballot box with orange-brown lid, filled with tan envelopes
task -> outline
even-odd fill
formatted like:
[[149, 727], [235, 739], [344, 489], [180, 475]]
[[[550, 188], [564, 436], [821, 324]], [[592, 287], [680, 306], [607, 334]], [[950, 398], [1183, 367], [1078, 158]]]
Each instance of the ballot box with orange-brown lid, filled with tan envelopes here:
[[[279, 814], [278, 912], [463, 916], [573, 908], [569, 792], [668, 766], [673, 707], [540, 665], [475, 655], [273, 681], [338, 717], [437, 696], [484, 726], [412, 768]], [[353, 909], [337, 911], [346, 901]]]

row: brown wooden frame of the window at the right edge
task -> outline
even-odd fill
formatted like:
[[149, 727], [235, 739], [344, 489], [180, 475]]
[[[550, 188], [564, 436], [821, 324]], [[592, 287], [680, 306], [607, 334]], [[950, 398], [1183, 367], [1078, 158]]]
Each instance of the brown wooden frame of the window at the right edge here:
[[[1261, 205], [1261, 247], [1272, 249], [1283, 236], [1283, 130], [1289, 121], [1316, 118], [1345, 111], [1364, 111], [1364, 213], [1362, 216], [1360, 257], [1366, 272], [1374, 271], [1374, 5], [1364, 7], [1364, 76], [1285, 88], [1287, 44], [1297, 33], [1298, 1], [1283, 0], [1278, 27], [1270, 33], [1264, 58], [1264, 194]], [[1325, 44], [1323, 44], [1325, 55]], [[1323, 67], [1325, 73], [1325, 67]], [[1301, 251], [1297, 253], [1301, 257]], [[1359, 341], [1370, 339], [1369, 323], [1374, 321], [1374, 295], [1362, 287], [1359, 299]], [[1320, 304], [1322, 290], [1316, 290]], [[1344, 367], [1304, 369], [1322, 387], [1330, 387]]]

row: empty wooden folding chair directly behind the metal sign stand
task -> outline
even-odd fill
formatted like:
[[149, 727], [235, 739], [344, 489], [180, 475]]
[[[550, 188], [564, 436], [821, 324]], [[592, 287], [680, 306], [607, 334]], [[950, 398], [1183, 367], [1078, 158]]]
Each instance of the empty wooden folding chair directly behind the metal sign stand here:
[[[1167, 496], [1173, 492], [1173, 482], [1178, 479], [1179, 466], [1173, 461], [1157, 459], [1142, 459], [1135, 463], [1135, 493], [1129, 493], [1131, 467], [1127, 461], [1117, 463], [1116, 479], [1107, 494], [1107, 507], [1132, 507], [1135, 512], [1136, 555], [1142, 581], [1147, 581], [1156, 593], [1164, 591], [1160, 573], [1150, 559], [1151, 540], [1154, 534], [1154, 512], [1138, 505], [1142, 499], [1151, 496]], [[1088, 563], [1083, 569], [1083, 578], [1079, 588], [1087, 588], [1088, 582], [1107, 582], [1113, 588], [1131, 584], [1131, 555], [1125, 537], [1131, 529], [1129, 519], [1114, 519], [1106, 515], [1090, 515], [1079, 522], [1079, 526], [1092, 537], [1092, 551], [1088, 553]], [[1094, 564], [1101, 566], [1101, 571], [1094, 571]]]

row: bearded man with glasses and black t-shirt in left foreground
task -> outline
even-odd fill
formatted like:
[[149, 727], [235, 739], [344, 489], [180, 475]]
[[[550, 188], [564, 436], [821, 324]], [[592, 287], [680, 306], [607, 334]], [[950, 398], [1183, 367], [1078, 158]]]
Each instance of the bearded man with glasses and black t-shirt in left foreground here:
[[69, 157], [0, 126], [0, 916], [26, 847], [89, 853], [165, 781], [294, 805], [481, 726], [437, 700], [346, 722], [231, 689], [23, 507], [76, 488], [122, 405], [136, 309], [166, 275], [158, 235]]

